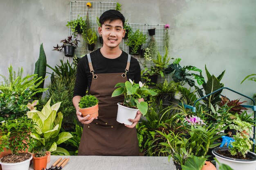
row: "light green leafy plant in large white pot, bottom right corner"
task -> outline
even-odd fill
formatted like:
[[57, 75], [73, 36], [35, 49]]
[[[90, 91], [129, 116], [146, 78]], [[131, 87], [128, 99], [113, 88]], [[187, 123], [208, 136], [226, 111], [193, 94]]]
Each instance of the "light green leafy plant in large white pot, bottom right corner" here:
[[[241, 121], [238, 117], [232, 121], [229, 127], [236, 130], [236, 135], [233, 135], [234, 141], [229, 143], [228, 148], [215, 148], [212, 153], [218, 162], [230, 166], [233, 170], [255, 170], [256, 154], [249, 152], [253, 144], [250, 140], [250, 136], [253, 134], [252, 125]], [[216, 168], [219, 168], [218, 163], [216, 163]]]

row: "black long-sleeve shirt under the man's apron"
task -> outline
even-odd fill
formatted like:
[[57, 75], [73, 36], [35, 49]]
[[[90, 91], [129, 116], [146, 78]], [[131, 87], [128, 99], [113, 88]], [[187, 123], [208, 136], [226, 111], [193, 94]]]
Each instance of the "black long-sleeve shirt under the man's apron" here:
[[[90, 56], [92, 60], [94, 74], [125, 72], [128, 54], [124, 51], [122, 51], [122, 54], [115, 59], [104, 57], [101, 54], [100, 49], [97, 49], [90, 53]], [[137, 59], [131, 57], [129, 72], [127, 72], [127, 78], [134, 80], [135, 83], [139, 83], [139, 81], [141, 81], [140, 72], [141, 70], [139, 62], [137, 61]], [[84, 96], [86, 90], [90, 89], [91, 83], [92, 73], [90, 73], [88, 58], [87, 55], [85, 55], [79, 60], [79, 63], [77, 65], [76, 83], [73, 96]]]

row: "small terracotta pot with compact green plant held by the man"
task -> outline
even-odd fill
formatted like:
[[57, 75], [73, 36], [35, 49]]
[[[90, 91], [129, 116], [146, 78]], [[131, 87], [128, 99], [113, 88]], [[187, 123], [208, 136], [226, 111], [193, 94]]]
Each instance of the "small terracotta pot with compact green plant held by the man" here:
[[85, 117], [90, 114], [88, 120], [99, 116], [99, 100], [93, 95], [85, 95], [79, 101], [79, 110], [82, 116]]

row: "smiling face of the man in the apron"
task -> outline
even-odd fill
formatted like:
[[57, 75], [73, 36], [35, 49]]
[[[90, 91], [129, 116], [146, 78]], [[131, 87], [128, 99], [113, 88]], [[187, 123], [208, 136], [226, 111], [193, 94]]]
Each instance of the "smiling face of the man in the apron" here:
[[106, 45], [109, 48], [119, 48], [119, 44], [124, 37], [125, 30], [123, 22], [121, 20], [106, 21], [102, 27], [99, 27], [99, 34], [103, 38], [103, 46]]

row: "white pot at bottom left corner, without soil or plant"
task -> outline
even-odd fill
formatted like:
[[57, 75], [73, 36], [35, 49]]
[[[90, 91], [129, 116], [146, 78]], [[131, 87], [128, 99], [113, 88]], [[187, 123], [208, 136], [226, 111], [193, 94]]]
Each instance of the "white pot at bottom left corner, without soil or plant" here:
[[31, 155], [31, 157], [26, 161], [22, 161], [18, 163], [3, 163], [0, 161], [0, 164], [2, 165], [2, 170], [28, 170], [29, 163], [32, 158], [33, 156]]

